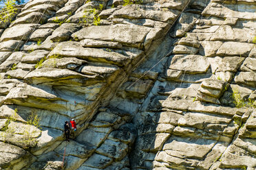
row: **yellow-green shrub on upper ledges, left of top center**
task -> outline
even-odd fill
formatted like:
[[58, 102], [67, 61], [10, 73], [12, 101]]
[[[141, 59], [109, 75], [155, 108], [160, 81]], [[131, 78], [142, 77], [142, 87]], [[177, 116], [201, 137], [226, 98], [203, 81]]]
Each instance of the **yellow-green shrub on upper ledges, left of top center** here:
[[85, 23], [85, 24], [92, 23], [93, 25], [96, 25], [96, 26], [100, 25], [100, 17], [98, 16], [98, 14], [102, 10], [103, 10], [103, 3], [100, 3], [97, 9], [89, 7], [89, 9], [84, 11], [85, 14], [83, 14], [79, 23]]

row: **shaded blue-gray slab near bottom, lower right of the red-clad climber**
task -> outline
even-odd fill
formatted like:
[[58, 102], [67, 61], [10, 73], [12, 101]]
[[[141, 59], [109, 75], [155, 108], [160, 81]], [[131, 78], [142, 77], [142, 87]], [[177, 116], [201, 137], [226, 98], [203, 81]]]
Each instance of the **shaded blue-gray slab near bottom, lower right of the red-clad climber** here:
[[115, 160], [122, 160], [127, 154], [128, 145], [125, 143], [115, 142], [107, 139], [104, 141], [103, 145], [100, 145], [96, 149], [97, 154], [103, 156], [108, 156], [109, 158], [114, 158]]

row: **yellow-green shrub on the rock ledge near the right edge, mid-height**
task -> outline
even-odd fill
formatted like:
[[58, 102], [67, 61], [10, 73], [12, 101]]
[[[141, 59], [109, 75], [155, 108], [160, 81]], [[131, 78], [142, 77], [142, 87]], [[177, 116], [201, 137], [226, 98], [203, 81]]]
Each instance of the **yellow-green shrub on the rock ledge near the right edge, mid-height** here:
[[238, 92], [238, 90], [236, 89], [233, 89], [232, 98], [233, 98], [233, 103], [237, 108], [243, 108], [243, 107], [256, 108], [256, 106], [254, 105], [255, 100], [248, 99], [245, 101], [243, 97], [240, 95], [240, 93]]

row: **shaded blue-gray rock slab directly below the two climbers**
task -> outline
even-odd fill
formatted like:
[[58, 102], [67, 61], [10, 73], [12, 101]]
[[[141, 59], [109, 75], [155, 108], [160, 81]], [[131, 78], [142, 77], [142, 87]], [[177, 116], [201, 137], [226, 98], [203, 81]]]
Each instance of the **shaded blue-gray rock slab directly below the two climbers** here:
[[87, 143], [87, 145], [82, 145], [76, 141], [70, 141], [68, 145], [66, 145], [66, 142], [61, 143], [61, 145], [58, 145], [54, 151], [62, 155], [64, 154], [64, 149], [66, 151], [65, 156], [71, 155], [78, 158], [88, 158], [92, 151], [96, 148], [93, 145], [89, 145], [89, 143]]

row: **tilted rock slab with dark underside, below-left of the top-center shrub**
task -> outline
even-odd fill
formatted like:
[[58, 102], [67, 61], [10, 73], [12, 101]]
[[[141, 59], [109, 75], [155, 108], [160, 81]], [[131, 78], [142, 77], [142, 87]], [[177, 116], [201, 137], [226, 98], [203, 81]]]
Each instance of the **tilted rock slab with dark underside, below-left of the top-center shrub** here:
[[54, 42], [69, 40], [71, 35], [78, 31], [80, 27], [80, 25], [74, 23], [63, 23], [60, 27], [56, 28], [54, 32], [52, 32], [50, 39]]

